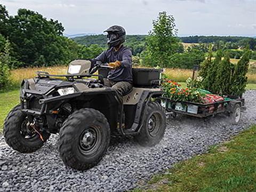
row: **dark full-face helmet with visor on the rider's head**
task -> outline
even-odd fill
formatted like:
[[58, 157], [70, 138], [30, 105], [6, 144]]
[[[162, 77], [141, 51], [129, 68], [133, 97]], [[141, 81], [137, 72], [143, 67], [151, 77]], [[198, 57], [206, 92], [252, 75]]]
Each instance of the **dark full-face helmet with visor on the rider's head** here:
[[108, 46], [113, 47], [125, 42], [125, 30], [121, 26], [111, 26], [107, 30]]

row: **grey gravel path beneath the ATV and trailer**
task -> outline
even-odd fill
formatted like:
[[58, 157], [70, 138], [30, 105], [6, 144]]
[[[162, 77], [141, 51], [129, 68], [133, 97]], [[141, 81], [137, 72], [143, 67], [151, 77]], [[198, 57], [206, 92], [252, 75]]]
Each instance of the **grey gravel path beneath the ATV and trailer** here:
[[0, 191], [124, 191], [143, 185], [154, 173], [205, 153], [209, 146], [255, 124], [256, 91], [247, 91], [244, 97], [247, 109], [238, 125], [231, 125], [225, 115], [170, 117], [157, 146], [143, 148], [127, 138], [113, 139], [102, 161], [87, 171], [63, 165], [57, 151], [58, 135], [32, 154], [12, 150], [0, 136]]

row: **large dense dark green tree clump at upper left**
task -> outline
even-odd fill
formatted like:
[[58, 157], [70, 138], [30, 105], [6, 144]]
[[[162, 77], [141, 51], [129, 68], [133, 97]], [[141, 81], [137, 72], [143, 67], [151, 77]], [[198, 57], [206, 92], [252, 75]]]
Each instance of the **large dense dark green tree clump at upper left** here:
[[52, 66], [77, 58], [78, 45], [62, 36], [64, 28], [60, 22], [26, 9], [9, 16], [0, 5], [0, 12], [4, 13], [0, 33], [12, 47], [10, 67]]

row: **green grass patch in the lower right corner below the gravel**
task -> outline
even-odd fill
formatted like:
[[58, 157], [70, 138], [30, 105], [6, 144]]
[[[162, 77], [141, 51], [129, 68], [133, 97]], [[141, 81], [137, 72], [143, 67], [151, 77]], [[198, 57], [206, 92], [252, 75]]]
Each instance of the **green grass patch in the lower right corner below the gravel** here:
[[254, 125], [231, 141], [211, 147], [209, 153], [155, 175], [146, 185], [147, 191], [256, 191], [255, 156]]

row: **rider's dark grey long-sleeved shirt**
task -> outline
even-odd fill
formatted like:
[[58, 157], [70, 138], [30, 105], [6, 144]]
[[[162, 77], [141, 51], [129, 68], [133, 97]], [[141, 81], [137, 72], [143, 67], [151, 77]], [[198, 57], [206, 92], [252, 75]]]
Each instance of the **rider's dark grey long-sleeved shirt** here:
[[103, 51], [95, 60], [102, 63], [121, 61], [119, 68], [109, 71], [108, 79], [114, 82], [126, 81], [132, 83], [132, 52], [124, 45], [121, 45], [118, 51], [115, 51], [114, 47]]

